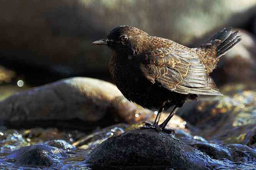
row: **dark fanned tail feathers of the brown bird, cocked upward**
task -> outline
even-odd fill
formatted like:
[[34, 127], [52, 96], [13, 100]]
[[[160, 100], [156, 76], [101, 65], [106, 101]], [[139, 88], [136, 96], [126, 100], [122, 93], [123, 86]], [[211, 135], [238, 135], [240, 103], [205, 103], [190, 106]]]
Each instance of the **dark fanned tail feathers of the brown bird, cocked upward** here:
[[214, 47], [216, 49], [215, 55], [217, 58], [223, 56], [242, 40], [241, 36], [237, 36], [239, 30], [235, 31], [234, 33], [232, 33], [232, 30], [232, 27], [222, 29], [211, 37], [204, 46]]

